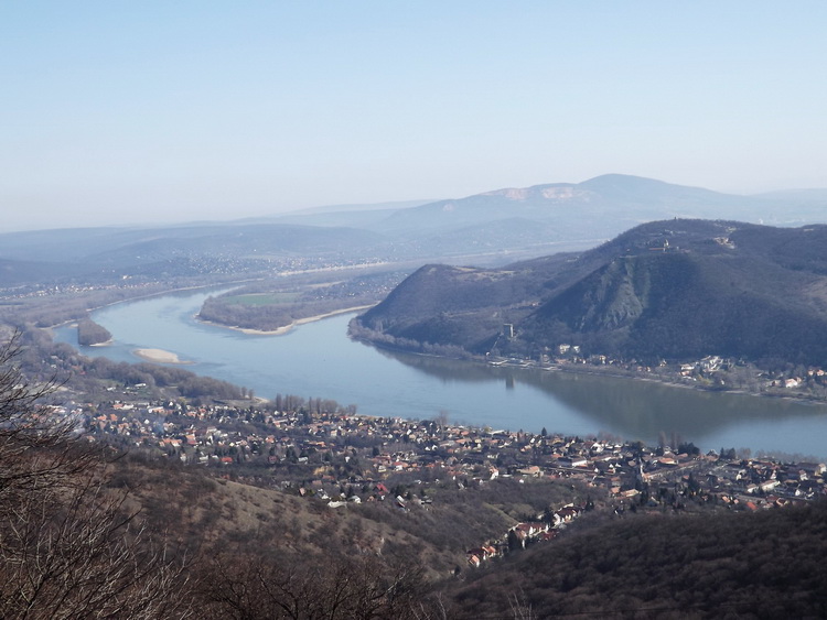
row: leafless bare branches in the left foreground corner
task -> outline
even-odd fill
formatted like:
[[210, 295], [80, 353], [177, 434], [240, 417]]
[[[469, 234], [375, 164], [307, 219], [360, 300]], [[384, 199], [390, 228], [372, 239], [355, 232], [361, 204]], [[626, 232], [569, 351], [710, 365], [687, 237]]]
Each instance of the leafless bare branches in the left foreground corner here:
[[42, 404], [57, 383], [31, 385], [19, 350], [0, 348], [0, 617], [186, 618], [186, 562], [107, 488], [101, 452]]

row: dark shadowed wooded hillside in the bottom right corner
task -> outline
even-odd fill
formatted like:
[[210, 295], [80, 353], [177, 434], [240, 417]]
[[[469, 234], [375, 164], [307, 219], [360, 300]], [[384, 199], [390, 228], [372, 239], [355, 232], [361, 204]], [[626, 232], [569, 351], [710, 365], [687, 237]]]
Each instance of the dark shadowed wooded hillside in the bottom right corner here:
[[821, 502], [617, 520], [476, 575], [453, 617], [823, 618], [826, 516]]

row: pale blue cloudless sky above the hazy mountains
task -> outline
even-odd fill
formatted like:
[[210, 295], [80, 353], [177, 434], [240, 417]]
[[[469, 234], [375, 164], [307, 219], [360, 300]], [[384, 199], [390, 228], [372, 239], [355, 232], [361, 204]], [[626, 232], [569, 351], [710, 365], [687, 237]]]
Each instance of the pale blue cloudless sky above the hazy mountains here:
[[827, 2], [0, 0], [0, 232], [827, 187]]

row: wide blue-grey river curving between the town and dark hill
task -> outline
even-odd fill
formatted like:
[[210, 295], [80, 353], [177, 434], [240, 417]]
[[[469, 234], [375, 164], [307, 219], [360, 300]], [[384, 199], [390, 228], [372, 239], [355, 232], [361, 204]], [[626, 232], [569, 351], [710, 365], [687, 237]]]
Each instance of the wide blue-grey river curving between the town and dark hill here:
[[[111, 331], [107, 347], [85, 355], [140, 361], [139, 348], [172, 351], [189, 370], [277, 393], [356, 404], [359, 413], [451, 421], [476, 426], [568, 435], [611, 433], [656, 445], [659, 437], [721, 447], [827, 457], [827, 406], [783, 399], [710, 393], [651, 381], [388, 352], [347, 338], [354, 316], [301, 325], [281, 336], [256, 336], [195, 320], [208, 293], [165, 295], [94, 313]], [[76, 330], [56, 339], [77, 347]]]

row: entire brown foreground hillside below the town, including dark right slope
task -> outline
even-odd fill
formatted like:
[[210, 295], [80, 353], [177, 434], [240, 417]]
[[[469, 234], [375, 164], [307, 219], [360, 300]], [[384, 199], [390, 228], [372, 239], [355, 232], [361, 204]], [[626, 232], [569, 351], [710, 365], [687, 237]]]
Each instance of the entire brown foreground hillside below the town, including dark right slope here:
[[[183, 566], [171, 585], [200, 618], [824, 613], [823, 502], [755, 514], [590, 513], [558, 540], [475, 569], [468, 548], [502, 536], [520, 511], [562, 504], [568, 482], [453, 486], [401, 511], [390, 501], [333, 509], [294, 488], [246, 483], [234, 468], [210, 471], [135, 454], [106, 477], [106, 493], [125, 497], [119, 505], [165, 542], [164, 562]], [[333, 591], [346, 596], [336, 603]], [[354, 600], [372, 611], [356, 616]]]

